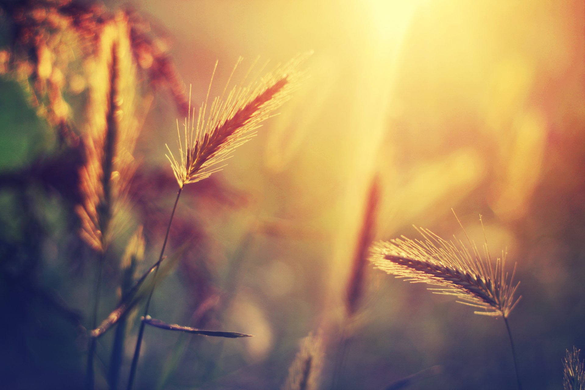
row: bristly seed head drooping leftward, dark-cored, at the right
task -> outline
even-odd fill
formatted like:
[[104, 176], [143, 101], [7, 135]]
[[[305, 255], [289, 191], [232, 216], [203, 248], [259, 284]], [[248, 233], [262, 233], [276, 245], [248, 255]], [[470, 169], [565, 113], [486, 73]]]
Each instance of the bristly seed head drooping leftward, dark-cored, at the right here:
[[460, 303], [484, 309], [476, 314], [507, 318], [518, 302], [512, 275], [504, 271], [505, 253], [491, 261], [487, 243], [484, 256], [472, 244], [471, 251], [459, 241], [443, 240], [427, 229], [417, 229], [424, 240], [402, 236], [380, 241], [371, 248], [370, 261], [380, 270], [411, 282], [439, 285], [436, 294], [454, 295]]

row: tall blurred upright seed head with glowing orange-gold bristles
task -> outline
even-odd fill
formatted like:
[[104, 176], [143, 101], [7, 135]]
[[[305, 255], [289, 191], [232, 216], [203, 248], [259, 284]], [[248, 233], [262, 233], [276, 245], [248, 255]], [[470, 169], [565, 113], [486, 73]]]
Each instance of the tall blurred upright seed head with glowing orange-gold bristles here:
[[[90, 111], [85, 164], [80, 170], [82, 205], [80, 235], [93, 249], [104, 251], [120, 216], [135, 170], [132, 151], [137, 125], [133, 115], [135, 65], [130, 54], [128, 25], [120, 15], [104, 27], [91, 68]], [[109, 80], [109, 82], [108, 82]]]

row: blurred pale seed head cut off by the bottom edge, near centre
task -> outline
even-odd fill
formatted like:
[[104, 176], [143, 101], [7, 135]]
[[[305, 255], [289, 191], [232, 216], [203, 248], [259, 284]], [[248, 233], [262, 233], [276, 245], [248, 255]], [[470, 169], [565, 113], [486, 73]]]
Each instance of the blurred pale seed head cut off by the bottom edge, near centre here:
[[321, 382], [324, 352], [321, 334], [305, 337], [301, 350], [288, 369], [283, 390], [317, 390]]

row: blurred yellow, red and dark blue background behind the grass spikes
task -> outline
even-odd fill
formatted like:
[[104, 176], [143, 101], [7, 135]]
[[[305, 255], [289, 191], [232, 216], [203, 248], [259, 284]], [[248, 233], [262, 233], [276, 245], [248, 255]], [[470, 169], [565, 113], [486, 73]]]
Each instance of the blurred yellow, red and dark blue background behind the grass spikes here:
[[[415, 237], [413, 224], [460, 238], [453, 208], [481, 243], [483, 215], [491, 250], [507, 248], [518, 264], [523, 298], [510, 322], [525, 388], [561, 388], [565, 349], [585, 347], [583, 2], [79, 2], [66, 4], [64, 25], [20, 40], [15, 10], [57, 3], [1, 4], [0, 387], [82, 383], [97, 258], [78, 238], [74, 212], [87, 61], [99, 23], [123, 9], [140, 76], [140, 166], [127, 218], [144, 226], [141, 270], [156, 260], [176, 192], [164, 144], [174, 146], [185, 115], [181, 80], [201, 102], [216, 60], [212, 95], [238, 56], [246, 68], [259, 55], [278, 63], [314, 50], [309, 77], [281, 115], [222, 172], [186, 187], [170, 249], [190, 244], [151, 310], [170, 323], [255, 337], [149, 328], [137, 388], [280, 388], [298, 340], [318, 328], [329, 388], [347, 326], [340, 389], [383, 388], [433, 365], [441, 374], [412, 389], [515, 388], [503, 321], [423, 285], [368, 269], [359, 313], [343, 325], [373, 178], [376, 239]], [[118, 301], [130, 230], [109, 251], [100, 318]], [[111, 337], [98, 346], [98, 388], [106, 388]]]

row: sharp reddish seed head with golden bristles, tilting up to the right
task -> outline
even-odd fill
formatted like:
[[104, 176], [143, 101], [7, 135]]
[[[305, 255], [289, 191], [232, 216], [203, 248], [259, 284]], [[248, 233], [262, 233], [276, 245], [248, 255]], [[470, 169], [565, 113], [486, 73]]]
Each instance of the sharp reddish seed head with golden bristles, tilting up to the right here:
[[218, 164], [229, 158], [236, 147], [250, 140], [260, 123], [287, 101], [297, 85], [299, 73], [296, 69], [301, 60], [301, 57], [295, 58], [246, 87], [233, 87], [225, 100], [223, 95], [214, 99], [209, 112], [206, 98], [199, 108], [197, 120], [195, 109], [191, 110], [189, 103], [183, 140], [177, 122], [178, 160], [167, 146], [167, 158], [180, 188], [221, 170]]

